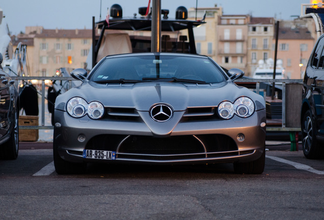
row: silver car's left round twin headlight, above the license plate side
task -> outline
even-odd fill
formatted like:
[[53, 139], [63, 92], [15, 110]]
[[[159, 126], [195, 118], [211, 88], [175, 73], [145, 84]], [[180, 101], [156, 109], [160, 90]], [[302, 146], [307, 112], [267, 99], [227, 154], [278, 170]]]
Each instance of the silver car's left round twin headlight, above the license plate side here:
[[86, 100], [80, 97], [71, 98], [66, 108], [68, 114], [74, 118], [81, 118], [88, 114], [92, 119], [99, 119], [104, 114], [104, 108], [100, 102], [93, 101], [88, 104]]

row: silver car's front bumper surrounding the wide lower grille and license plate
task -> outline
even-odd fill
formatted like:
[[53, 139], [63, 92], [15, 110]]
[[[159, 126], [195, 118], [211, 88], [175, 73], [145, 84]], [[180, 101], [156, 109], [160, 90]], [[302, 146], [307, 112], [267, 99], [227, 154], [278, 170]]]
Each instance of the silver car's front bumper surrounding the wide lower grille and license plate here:
[[[60, 126], [55, 126], [53, 147], [71, 162], [249, 162], [265, 148], [264, 110], [246, 119], [180, 121], [165, 135], [156, 135], [143, 121], [75, 119], [58, 110], [55, 122]], [[79, 135], [85, 141], [78, 141]], [[83, 158], [84, 149], [115, 151], [116, 160]]]

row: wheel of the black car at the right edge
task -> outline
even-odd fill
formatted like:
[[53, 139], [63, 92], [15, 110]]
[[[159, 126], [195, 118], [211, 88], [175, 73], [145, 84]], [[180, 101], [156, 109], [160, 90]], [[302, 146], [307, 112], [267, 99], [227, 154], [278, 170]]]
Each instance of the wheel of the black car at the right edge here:
[[308, 159], [318, 159], [323, 155], [323, 149], [316, 139], [316, 127], [311, 113], [308, 110], [302, 121], [302, 145], [303, 152]]

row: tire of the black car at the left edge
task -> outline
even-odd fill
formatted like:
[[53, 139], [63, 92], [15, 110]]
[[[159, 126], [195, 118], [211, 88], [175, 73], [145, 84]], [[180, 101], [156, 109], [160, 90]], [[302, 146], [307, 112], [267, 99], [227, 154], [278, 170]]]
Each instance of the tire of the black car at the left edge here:
[[9, 140], [4, 143], [0, 149], [0, 158], [6, 160], [14, 160], [18, 157], [19, 151], [19, 125], [18, 125], [19, 113], [16, 109], [13, 117], [12, 129], [10, 131]]

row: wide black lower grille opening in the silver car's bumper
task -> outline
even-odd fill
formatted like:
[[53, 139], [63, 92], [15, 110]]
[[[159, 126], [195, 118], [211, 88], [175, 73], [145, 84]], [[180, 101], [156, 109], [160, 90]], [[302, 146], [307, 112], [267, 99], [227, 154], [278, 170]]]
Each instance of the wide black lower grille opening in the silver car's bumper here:
[[117, 158], [181, 160], [239, 155], [231, 137], [223, 134], [153, 137], [140, 135], [98, 135], [86, 149], [116, 151]]

